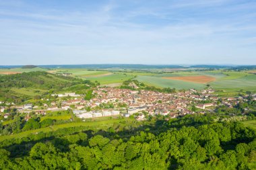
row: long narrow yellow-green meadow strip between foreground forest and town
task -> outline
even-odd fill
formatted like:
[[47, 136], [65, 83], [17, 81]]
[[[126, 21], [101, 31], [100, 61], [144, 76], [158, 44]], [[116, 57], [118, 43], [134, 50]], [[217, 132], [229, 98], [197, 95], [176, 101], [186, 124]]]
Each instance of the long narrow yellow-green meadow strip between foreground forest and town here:
[[51, 127], [40, 128], [40, 129], [36, 129], [36, 130], [28, 130], [26, 132], [20, 132], [18, 134], [0, 136], [0, 142], [5, 139], [22, 138], [22, 137], [28, 136], [29, 134], [36, 134], [38, 132], [50, 132], [50, 131], [58, 130], [60, 128], [69, 128], [69, 127], [75, 127], [75, 126], [85, 126], [85, 127], [90, 127], [90, 128], [106, 129], [110, 126], [113, 126], [114, 123], [119, 123], [122, 121], [124, 121], [124, 120], [109, 119], [109, 120], [97, 120], [95, 122], [71, 122], [68, 124], [58, 124], [58, 125], [54, 125]]

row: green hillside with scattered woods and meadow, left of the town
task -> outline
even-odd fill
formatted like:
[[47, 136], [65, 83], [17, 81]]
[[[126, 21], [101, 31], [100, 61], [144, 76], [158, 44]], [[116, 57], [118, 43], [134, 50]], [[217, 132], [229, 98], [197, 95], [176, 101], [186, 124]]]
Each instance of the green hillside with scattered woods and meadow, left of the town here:
[[46, 93], [59, 91], [72, 91], [88, 89], [94, 85], [90, 81], [54, 75], [44, 71], [20, 73], [0, 76], [0, 100], [20, 101], [22, 97], [30, 98]]

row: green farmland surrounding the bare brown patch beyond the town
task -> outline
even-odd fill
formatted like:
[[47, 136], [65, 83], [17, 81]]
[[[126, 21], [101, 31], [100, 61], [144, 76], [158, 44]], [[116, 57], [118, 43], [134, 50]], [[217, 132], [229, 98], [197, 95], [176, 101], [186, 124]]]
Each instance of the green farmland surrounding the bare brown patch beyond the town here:
[[225, 96], [234, 96], [242, 91], [256, 91], [256, 75], [245, 71], [175, 71], [174, 73], [162, 73], [156, 75], [139, 75], [137, 80], [146, 85], [154, 85], [164, 88], [175, 89], [203, 89], [205, 84], [193, 83], [187, 81], [178, 81], [162, 79], [161, 77], [184, 77], [206, 75], [216, 78], [216, 81], [210, 82], [213, 89], [220, 90], [218, 93]]

